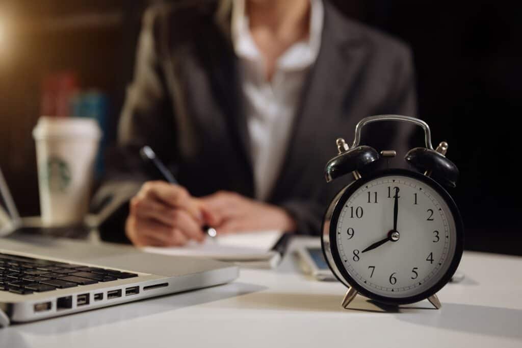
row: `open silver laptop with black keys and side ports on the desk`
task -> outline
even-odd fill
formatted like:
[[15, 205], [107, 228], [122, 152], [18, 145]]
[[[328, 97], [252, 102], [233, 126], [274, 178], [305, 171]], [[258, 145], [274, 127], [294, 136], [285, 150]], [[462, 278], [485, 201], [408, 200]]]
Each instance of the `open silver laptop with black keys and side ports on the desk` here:
[[6, 238], [20, 218], [0, 171], [0, 327], [224, 284], [237, 266], [133, 247]]

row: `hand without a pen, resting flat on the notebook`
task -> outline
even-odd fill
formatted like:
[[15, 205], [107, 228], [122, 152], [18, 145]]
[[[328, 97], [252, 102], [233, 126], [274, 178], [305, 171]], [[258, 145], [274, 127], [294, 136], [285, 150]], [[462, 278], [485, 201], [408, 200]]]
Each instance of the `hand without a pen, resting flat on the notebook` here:
[[218, 234], [267, 229], [291, 232], [296, 228], [294, 219], [282, 208], [235, 192], [219, 191], [199, 200], [208, 212], [207, 223]]

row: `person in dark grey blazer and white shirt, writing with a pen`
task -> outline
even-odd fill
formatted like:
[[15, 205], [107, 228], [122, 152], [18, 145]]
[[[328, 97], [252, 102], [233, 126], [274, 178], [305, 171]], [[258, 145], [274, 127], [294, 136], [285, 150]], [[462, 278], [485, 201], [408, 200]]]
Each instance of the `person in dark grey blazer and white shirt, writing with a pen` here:
[[[132, 182], [137, 193], [102, 235], [115, 239], [125, 224], [135, 245], [167, 246], [203, 240], [204, 225], [318, 234], [329, 200], [350, 182], [324, 179], [336, 138], [351, 143], [355, 124], [374, 114], [416, 114], [411, 52], [328, 1], [153, 6], [106, 181], [116, 191]], [[363, 140], [395, 149], [401, 166], [410, 135], [379, 123]], [[179, 185], [148, 176], [144, 145]]]

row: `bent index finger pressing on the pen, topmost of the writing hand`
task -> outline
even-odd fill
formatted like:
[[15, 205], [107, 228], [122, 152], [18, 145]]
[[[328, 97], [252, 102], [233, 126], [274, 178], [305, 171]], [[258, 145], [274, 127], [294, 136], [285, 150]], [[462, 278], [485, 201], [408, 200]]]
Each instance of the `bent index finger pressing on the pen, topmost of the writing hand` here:
[[192, 196], [180, 185], [165, 181], [149, 181], [144, 184], [143, 191], [148, 197], [158, 199], [173, 208], [186, 210], [198, 221], [203, 219]]

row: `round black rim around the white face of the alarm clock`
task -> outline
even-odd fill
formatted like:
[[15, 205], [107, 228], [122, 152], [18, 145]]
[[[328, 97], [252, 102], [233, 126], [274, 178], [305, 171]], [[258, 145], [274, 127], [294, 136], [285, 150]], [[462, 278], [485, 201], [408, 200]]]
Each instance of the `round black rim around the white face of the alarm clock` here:
[[[448, 270], [446, 273], [441, 277], [441, 279], [435, 283], [433, 286], [431, 286], [429, 289], [425, 290], [424, 292], [409, 296], [409, 297], [386, 297], [382, 295], [374, 294], [367, 289], [360, 286], [348, 273], [348, 271], [345, 269], [345, 266], [343, 265], [342, 259], [339, 256], [338, 248], [337, 248], [337, 223], [339, 220], [339, 216], [342, 210], [342, 207], [344, 205], [344, 202], [347, 201], [349, 196], [351, 196], [355, 191], [357, 191], [359, 188], [361, 188], [364, 184], [367, 182], [370, 182], [372, 180], [378, 179], [379, 177], [384, 176], [390, 176], [390, 175], [400, 175], [400, 176], [406, 176], [413, 179], [417, 179], [419, 181], [424, 182], [426, 185], [428, 185], [430, 188], [435, 190], [438, 194], [441, 195], [442, 199], [446, 202], [446, 204], [449, 207], [449, 210], [452, 212], [453, 217], [455, 219], [455, 234], [456, 234], [456, 246], [455, 246], [455, 253], [453, 255], [453, 260], [451, 264], [449, 265]], [[407, 169], [386, 169], [382, 171], [378, 171], [375, 173], [372, 173], [368, 176], [365, 176], [359, 180], [356, 180], [352, 183], [350, 183], [346, 188], [345, 192], [340, 196], [339, 200], [336, 203], [336, 206], [334, 208], [334, 211], [331, 215], [331, 221], [330, 221], [330, 229], [329, 229], [329, 239], [330, 239], [330, 251], [331, 256], [334, 259], [334, 262], [336, 264], [336, 267], [338, 271], [341, 273], [343, 277], [345, 277], [344, 280], [339, 279], [339, 276], [337, 275], [337, 272], [334, 271], [332, 266], [330, 265], [330, 261], [326, 257], [325, 252], [325, 246], [323, 238], [321, 238], [321, 247], [323, 249], [323, 254], [325, 256], [325, 260], [327, 261], [328, 267], [334, 273], [336, 278], [343, 284], [347, 282], [350, 284], [350, 286], [353, 286], [355, 290], [357, 290], [358, 293], [360, 293], [363, 296], [366, 296], [370, 299], [373, 299], [375, 301], [378, 301], [380, 303], [384, 303], [387, 305], [402, 305], [402, 304], [409, 304], [409, 303], [415, 303], [422, 301], [423, 299], [426, 299], [433, 294], [437, 293], [444, 285], [446, 285], [455, 271], [457, 270], [457, 267], [460, 263], [460, 259], [462, 257], [462, 251], [464, 250], [464, 224], [462, 223], [462, 217], [460, 215], [460, 212], [457, 208], [457, 205], [455, 204], [455, 201], [452, 199], [452, 197], [449, 195], [449, 193], [435, 180], [431, 179], [430, 177], [427, 177], [425, 175], [422, 175], [421, 173], [407, 170]], [[342, 202], [342, 203], [340, 203]], [[333, 201], [330, 203], [330, 205], [333, 204]], [[323, 218], [323, 226], [325, 224], [326, 215]]]

